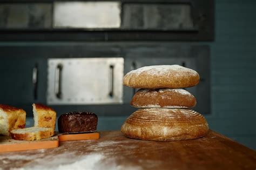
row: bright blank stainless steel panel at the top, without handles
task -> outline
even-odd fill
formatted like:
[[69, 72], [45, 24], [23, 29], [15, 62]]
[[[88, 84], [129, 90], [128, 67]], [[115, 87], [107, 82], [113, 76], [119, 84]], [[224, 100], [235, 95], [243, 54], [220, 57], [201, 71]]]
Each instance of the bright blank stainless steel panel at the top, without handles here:
[[55, 28], [119, 28], [120, 2], [55, 2]]

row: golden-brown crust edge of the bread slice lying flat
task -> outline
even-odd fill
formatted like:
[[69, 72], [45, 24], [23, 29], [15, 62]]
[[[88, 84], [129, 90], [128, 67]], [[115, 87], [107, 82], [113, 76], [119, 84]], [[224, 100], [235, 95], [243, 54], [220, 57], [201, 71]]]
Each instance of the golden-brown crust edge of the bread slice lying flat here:
[[[33, 128], [33, 127], [30, 127]], [[24, 128], [25, 130], [26, 128]], [[11, 131], [11, 138], [15, 140], [40, 140], [45, 138], [50, 138], [54, 135], [54, 130], [52, 128], [47, 128], [45, 131], [39, 132], [26, 132], [26, 133], [16, 133], [15, 130]]]

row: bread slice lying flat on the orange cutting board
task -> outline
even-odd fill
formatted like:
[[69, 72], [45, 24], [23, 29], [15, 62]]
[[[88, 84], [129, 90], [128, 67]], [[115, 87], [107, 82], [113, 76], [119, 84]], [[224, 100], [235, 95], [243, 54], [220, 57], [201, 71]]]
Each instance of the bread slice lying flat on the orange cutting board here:
[[52, 128], [28, 127], [11, 131], [11, 138], [15, 140], [39, 140], [50, 138], [54, 134]]

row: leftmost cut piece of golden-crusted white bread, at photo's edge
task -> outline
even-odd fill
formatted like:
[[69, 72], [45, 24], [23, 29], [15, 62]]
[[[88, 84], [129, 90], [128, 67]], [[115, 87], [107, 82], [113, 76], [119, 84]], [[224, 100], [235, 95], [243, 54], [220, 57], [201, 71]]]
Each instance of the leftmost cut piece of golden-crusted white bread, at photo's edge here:
[[26, 112], [21, 108], [0, 104], [0, 134], [10, 135], [10, 131], [24, 128]]

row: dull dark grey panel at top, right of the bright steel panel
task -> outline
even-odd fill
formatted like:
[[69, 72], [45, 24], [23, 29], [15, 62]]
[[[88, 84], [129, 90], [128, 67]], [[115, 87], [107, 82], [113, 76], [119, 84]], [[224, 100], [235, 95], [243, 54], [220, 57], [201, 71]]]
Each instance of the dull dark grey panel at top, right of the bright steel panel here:
[[123, 7], [123, 28], [143, 30], [194, 29], [189, 4], [136, 4]]

